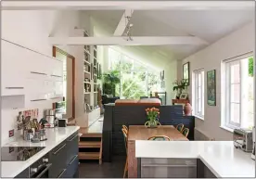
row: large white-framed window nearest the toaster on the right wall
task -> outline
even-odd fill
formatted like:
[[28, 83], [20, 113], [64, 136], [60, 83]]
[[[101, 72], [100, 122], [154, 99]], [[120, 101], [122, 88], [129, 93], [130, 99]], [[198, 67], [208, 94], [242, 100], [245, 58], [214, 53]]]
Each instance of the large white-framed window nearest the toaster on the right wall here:
[[225, 126], [252, 127], [253, 101], [253, 58], [247, 55], [226, 61]]

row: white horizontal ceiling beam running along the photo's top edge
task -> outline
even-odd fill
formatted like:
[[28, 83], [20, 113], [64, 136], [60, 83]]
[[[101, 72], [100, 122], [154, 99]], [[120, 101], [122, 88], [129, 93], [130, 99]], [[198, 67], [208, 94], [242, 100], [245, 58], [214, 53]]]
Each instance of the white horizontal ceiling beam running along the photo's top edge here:
[[254, 9], [254, 1], [2, 1], [2, 9]]

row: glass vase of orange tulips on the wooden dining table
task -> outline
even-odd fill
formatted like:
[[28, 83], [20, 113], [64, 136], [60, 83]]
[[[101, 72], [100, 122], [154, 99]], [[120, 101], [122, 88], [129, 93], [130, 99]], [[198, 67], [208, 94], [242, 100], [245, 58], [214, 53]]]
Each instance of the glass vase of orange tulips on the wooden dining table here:
[[146, 121], [145, 126], [147, 126], [148, 128], [156, 128], [158, 124], [160, 124], [160, 121], [158, 119], [160, 115], [160, 109], [146, 109], [146, 112], [148, 121]]

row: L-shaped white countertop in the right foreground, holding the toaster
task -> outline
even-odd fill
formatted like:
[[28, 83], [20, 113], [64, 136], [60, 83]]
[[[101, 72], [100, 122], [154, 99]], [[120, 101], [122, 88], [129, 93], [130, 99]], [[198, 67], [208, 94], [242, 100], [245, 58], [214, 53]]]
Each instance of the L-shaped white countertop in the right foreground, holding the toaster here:
[[217, 177], [255, 178], [255, 160], [233, 141], [135, 141], [136, 158], [200, 159]]

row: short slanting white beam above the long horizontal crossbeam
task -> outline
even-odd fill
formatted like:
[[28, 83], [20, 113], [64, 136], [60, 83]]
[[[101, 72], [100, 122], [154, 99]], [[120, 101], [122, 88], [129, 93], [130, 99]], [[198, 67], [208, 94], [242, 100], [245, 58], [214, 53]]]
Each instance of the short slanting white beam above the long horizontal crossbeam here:
[[128, 21], [126, 17], [132, 17], [134, 10], [126, 9], [122, 14], [122, 18], [120, 19], [116, 31], [114, 32], [114, 36], [122, 36], [122, 33], [125, 31]]

